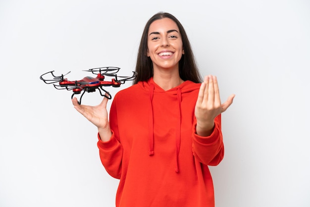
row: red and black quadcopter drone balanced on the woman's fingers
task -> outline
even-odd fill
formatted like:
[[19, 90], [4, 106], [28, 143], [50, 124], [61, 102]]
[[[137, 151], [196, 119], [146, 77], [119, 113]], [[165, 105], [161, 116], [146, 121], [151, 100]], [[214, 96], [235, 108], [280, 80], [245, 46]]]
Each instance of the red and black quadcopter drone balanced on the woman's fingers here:
[[[53, 70], [53, 71], [50, 71], [50, 72], [47, 72], [41, 75], [40, 79], [43, 80], [46, 84], [53, 84], [55, 89], [58, 89], [58, 90], [64, 89], [68, 91], [73, 91], [71, 99], [73, 99], [74, 95], [82, 93], [82, 95], [80, 96], [80, 101], [78, 101], [78, 104], [81, 104], [82, 97], [85, 94], [85, 92], [90, 93], [90, 92], [95, 92], [96, 90], [100, 92], [101, 96], [107, 99], [112, 99], [112, 96], [110, 95], [110, 93], [104, 90], [103, 87], [106, 87], [106, 86], [120, 87], [121, 84], [124, 84], [126, 81], [132, 81], [137, 76], [137, 72], [134, 72], [134, 71], [133, 71], [133, 75], [130, 77], [117, 76], [116, 73], [119, 71], [119, 69], [120, 69], [119, 67], [98, 67], [98, 68], [83, 70], [83, 71], [91, 72], [92, 74], [97, 75], [97, 77], [86, 76], [81, 80], [75, 80], [75, 81], [70, 81], [67, 78], [64, 78], [64, 76], [69, 74], [71, 71], [67, 72], [64, 75], [61, 74], [60, 76], [55, 76], [54, 70]], [[47, 76], [48, 74], [50, 74], [50, 76], [52, 75], [52, 79], [43, 78], [43, 76]], [[110, 81], [105, 81], [104, 80], [105, 76], [112, 76], [114, 78], [112, 78]]]

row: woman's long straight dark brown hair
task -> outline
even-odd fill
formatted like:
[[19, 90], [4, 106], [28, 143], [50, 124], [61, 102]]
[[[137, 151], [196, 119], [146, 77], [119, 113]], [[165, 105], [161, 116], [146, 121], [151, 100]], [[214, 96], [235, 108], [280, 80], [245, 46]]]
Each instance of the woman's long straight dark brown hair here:
[[194, 54], [192, 52], [191, 44], [186, 35], [186, 32], [179, 22], [179, 20], [174, 17], [170, 13], [158, 12], [154, 16], [152, 16], [147, 22], [144, 31], [142, 33], [142, 38], [138, 50], [137, 64], [136, 64], [136, 72], [137, 77], [134, 80], [133, 84], [137, 84], [139, 81], [147, 81], [151, 77], [153, 77], [153, 63], [150, 57], [148, 57], [148, 32], [150, 25], [158, 19], [170, 18], [172, 19], [178, 26], [180, 30], [180, 34], [182, 37], [184, 54], [182, 55], [179, 61], [179, 74], [180, 78], [184, 81], [190, 80], [194, 83], [201, 83], [202, 77], [198, 71]]

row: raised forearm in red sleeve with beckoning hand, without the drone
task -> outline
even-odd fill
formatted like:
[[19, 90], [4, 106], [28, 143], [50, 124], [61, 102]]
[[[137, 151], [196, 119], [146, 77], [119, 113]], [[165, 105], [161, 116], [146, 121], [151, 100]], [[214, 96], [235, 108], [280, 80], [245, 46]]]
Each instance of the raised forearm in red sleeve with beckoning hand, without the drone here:
[[217, 79], [206, 76], [201, 84], [195, 106], [193, 152], [200, 162], [217, 165], [224, 156], [221, 113], [233, 102], [235, 95], [221, 104]]

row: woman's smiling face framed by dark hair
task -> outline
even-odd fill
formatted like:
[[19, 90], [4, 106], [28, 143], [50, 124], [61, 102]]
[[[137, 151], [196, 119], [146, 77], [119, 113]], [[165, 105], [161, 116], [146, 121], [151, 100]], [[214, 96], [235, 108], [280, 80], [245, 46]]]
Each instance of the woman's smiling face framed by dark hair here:
[[148, 56], [156, 69], [179, 69], [184, 54], [182, 37], [177, 24], [170, 18], [155, 20], [148, 33]]

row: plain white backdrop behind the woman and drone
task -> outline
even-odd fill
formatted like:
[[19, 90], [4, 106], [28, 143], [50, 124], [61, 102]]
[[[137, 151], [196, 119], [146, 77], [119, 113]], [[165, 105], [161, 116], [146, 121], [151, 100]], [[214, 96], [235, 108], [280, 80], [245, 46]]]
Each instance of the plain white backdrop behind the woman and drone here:
[[216, 207], [310, 206], [308, 0], [0, 0], [0, 207], [114, 206], [97, 129], [71, 92], [39, 77], [103, 66], [130, 75], [158, 11], [181, 21], [222, 101], [236, 94], [222, 114], [225, 157], [210, 168]]

